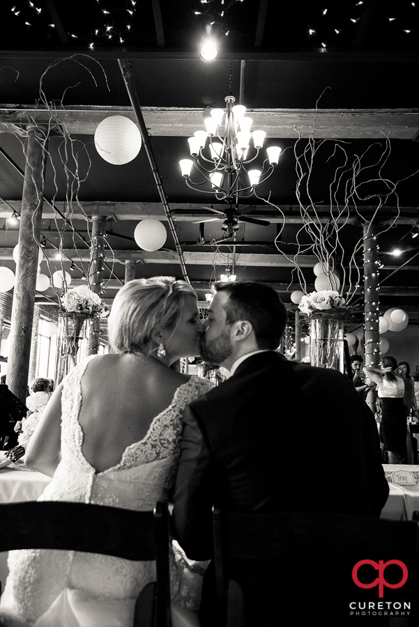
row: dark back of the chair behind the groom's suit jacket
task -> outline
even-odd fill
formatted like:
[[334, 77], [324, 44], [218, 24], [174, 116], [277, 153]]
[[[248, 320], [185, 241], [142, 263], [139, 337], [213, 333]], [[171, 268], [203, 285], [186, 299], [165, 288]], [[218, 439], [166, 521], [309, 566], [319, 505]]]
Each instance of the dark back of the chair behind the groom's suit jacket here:
[[[230, 513], [213, 506], [214, 568], [220, 627], [227, 624], [231, 564], [269, 564], [271, 572], [282, 576], [277, 594], [286, 596], [294, 585], [294, 594], [310, 587], [333, 596], [342, 591], [352, 568], [359, 560], [399, 559], [409, 562], [412, 579], [417, 576], [419, 525], [416, 521], [394, 521], [373, 517], [344, 516], [334, 513]], [[333, 566], [339, 564], [339, 571]], [[299, 566], [300, 565], [300, 566]], [[319, 565], [319, 568], [317, 568]], [[349, 566], [350, 565], [350, 566]], [[288, 569], [288, 570], [287, 570]], [[311, 570], [310, 570], [311, 569]], [[262, 569], [262, 573], [263, 573]], [[268, 572], [268, 569], [266, 569]], [[314, 580], [326, 575], [328, 585]], [[335, 582], [333, 575], [336, 574]], [[292, 573], [292, 574], [291, 574]], [[342, 585], [344, 575], [346, 583]], [[349, 576], [347, 576], [349, 575]], [[263, 574], [261, 575], [263, 577]], [[295, 581], [293, 583], [293, 577]], [[241, 583], [240, 577], [238, 582]], [[285, 585], [284, 585], [285, 584]], [[321, 589], [321, 586], [323, 589]], [[245, 592], [246, 595], [246, 592]], [[317, 597], [319, 598], [319, 597]], [[347, 605], [345, 605], [347, 607]], [[231, 612], [229, 612], [231, 614]], [[336, 620], [337, 617], [334, 618]], [[229, 616], [228, 624], [239, 624]]]

